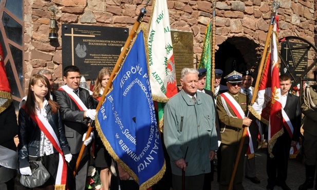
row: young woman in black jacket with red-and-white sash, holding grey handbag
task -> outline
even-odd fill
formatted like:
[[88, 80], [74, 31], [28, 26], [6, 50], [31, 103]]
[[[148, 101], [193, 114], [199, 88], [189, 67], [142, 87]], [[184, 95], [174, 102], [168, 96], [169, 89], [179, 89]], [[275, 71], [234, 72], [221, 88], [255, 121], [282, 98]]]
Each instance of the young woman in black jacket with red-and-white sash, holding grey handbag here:
[[[34, 189], [65, 189], [71, 154], [65, 137], [59, 106], [50, 99], [51, 85], [42, 74], [32, 75], [28, 99], [18, 113], [18, 161], [21, 175], [32, 175], [29, 161], [42, 161], [50, 173]], [[65, 157], [65, 158], [64, 158]]]

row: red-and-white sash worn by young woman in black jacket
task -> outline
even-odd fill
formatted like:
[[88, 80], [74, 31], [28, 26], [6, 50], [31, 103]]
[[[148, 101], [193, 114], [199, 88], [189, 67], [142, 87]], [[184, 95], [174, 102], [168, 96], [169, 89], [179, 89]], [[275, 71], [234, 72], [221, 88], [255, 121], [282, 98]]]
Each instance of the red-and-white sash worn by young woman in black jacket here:
[[30, 117], [40, 127], [40, 129], [44, 132], [44, 135], [48, 138], [48, 140], [52, 143], [53, 147], [57, 149], [57, 151], [60, 154], [57, 176], [55, 180], [55, 189], [65, 189], [67, 179], [67, 164], [64, 158], [64, 153], [61, 148], [59, 139], [55, 134], [52, 126], [43, 116], [40, 115], [39, 110], [36, 110], [35, 116], [30, 115]]

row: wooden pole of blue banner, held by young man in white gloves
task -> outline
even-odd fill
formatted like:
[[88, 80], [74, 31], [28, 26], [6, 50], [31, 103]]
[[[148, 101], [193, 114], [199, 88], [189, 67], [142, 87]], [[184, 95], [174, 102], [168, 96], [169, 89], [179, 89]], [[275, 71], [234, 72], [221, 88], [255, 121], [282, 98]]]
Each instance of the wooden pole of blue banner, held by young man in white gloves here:
[[[140, 10], [140, 14], [139, 14], [139, 16], [138, 16], [138, 19], [137, 19], [137, 21], [134, 23], [133, 28], [132, 28], [132, 30], [131, 30], [129, 36], [128, 36], [127, 40], [125, 41], [125, 44], [124, 44], [124, 46], [123, 46], [123, 48], [122, 48], [122, 51], [121, 51], [121, 53], [120, 53], [120, 55], [119, 55], [119, 58], [118, 58], [117, 63], [116, 63], [116, 65], [115, 65], [115, 67], [114, 67], [114, 70], [111, 72], [111, 75], [110, 75], [110, 78], [109, 78], [109, 82], [107, 83], [107, 85], [106, 85], [106, 87], [105, 87], [105, 90], [103, 91], [103, 94], [102, 94], [102, 96], [101, 96], [101, 99], [100, 99], [100, 101], [99, 101], [99, 103], [98, 103], [98, 106], [97, 106], [97, 108], [96, 108], [96, 111], [97, 111], [97, 112], [98, 112], [98, 110], [100, 109], [101, 105], [103, 104], [103, 102], [104, 102], [104, 100], [105, 100], [105, 97], [106, 97], [106, 94], [108, 93], [108, 91], [109, 91], [109, 89], [110, 89], [110, 86], [112, 86], [112, 84], [113, 84], [113, 80], [114, 80], [114, 78], [115, 78], [115, 75], [118, 73], [118, 71], [119, 71], [119, 69], [120, 69], [120, 67], [121, 67], [121, 65], [122, 65], [122, 62], [124, 61], [124, 59], [125, 59], [125, 57], [126, 57], [126, 54], [127, 54], [128, 50], [129, 50], [129, 48], [130, 48], [130, 46], [131, 46], [131, 43], [132, 43], [132, 41], [133, 41], [133, 39], [134, 39], [134, 37], [135, 37], [135, 35], [136, 35], [138, 29], [139, 29], [139, 26], [140, 26], [140, 23], [141, 23], [141, 21], [142, 21], [142, 19], [143, 19], [143, 16], [146, 14], [146, 6], [147, 6], [147, 4], [148, 4], [148, 1], [146, 2], [144, 8], [142, 8], [142, 9]], [[91, 123], [94, 123], [94, 122], [91, 122]], [[88, 130], [87, 130], [86, 139], [89, 138], [89, 134], [90, 134], [90, 132], [92, 131], [92, 129], [94, 129], [94, 125], [91, 125], [91, 124], [88, 125]], [[85, 140], [86, 140], [86, 139], [85, 139]], [[74, 176], [74, 177], [76, 176], [77, 169], [78, 169], [79, 164], [80, 164], [80, 161], [81, 161], [81, 159], [82, 159], [82, 157], [83, 157], [85, 148], [86, 148], [86, 146], [85, 146], [84, 143], [83, 143], [83, 144], [82, 144], [82, 147], [81, 147], [81, 149], [80, 149], [80, 152], [79, 152], [78, 159], [77, 159], [77, 161], [76, 161], [76, 166], [75, 166], [75, 168], [74, 168], [74, 170], [73, 170], [73, 176]]]

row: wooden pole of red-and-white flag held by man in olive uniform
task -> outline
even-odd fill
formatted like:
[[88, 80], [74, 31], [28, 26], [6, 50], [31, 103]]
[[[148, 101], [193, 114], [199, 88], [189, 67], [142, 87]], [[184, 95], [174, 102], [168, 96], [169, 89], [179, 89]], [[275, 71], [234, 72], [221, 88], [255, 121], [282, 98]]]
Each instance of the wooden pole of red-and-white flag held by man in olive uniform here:
[[[271, 23], [270, 23], [270, 26], [269, 26], [268, 34], [266, 36], [266, 42], [265, 42], [265, 46], [264, 46], [264, 51], [263, 51], [262, 59], [261, 59], [261, 62], [260, 62], [259, 68], [258, 68], [258, 73], [257, 73], [257, 77], [256, 77], [256, 82], [255, 82], [254, 91], [253, 91], [253, 94], [252, 94], [252, 99], [251, 99], [250, 106], [252, 106], [254, 104], [255, 98], [257, 96], [259, 83], [260, 83], [260, 80], [262, 78], [263, 68], [265, 66], [265, 61], [266, 61], [266, 56], [267, 56], [267, 52], [268, 52], [268, 47], [269, 47], [269, 44], [270, 44], [271, 39], [272, 39], [272, 30], [273, 30], [275, 15], [277, 14], [277, 8], [279, 7], [279, 3], [277, 1], [274, 1], [272, 6], [273, 6], [274, 15], [271, 18]], [[250, 111], [248, 111], [247, 117], [248, 118], [250, 117]], [[238, 150], [238, 153], [237, 153], [237, 157], [236, 157], [236, 161], [235, 161], [235, 164], [234, 164], [234, 168], [233, 168], [233, 172], [232, 172], [232, 175], [231, 175], [231, 179], [230, 179], [230, 184], [229, 184], [228, 190], [231, 190], [232, 186], [233, 186], [233, 180], [234, 180], [235, 174], [237, 172], [237, 167], [238, 167], [240, 155], [241, 155], [241, 152], [242, 152], [242, 148], [243, 148], [243, 145], [244, 145], [244, 142], [245, 142], [247, 129], [248, 129], [248, 126], [244, 126], [243, 127], [243, 134], [242, 134], [242, 138], [241, 138], [241, 141], [240, 141], [240, 146], [239, 146], [239, 150]]]

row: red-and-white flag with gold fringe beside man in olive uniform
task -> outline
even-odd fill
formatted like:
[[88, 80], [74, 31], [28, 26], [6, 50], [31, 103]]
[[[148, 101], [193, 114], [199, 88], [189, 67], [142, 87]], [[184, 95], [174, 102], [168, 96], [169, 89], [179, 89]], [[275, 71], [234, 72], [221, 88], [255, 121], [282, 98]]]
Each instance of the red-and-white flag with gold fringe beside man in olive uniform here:
[[257, 101], [252, 105], [258, 113], [257, 118], [268, 124], [268, 151], [271, 157], [272, 149], [283, 130], [283, 116], [281, 103], [281, 88], [279, 87], [279, 64], [277, 53], [278, 16], [275, 16], [270, 52], [263, 69], [263, 77], [257, 93]]

